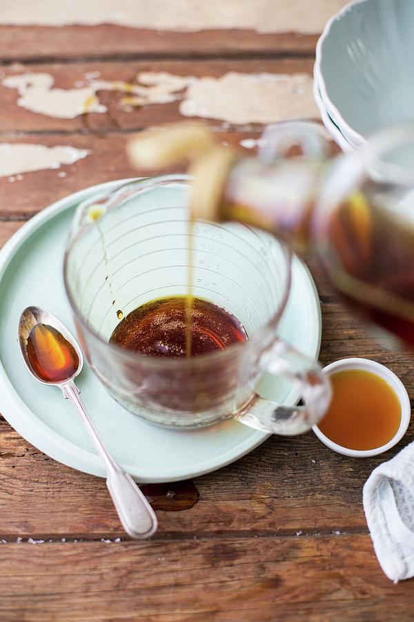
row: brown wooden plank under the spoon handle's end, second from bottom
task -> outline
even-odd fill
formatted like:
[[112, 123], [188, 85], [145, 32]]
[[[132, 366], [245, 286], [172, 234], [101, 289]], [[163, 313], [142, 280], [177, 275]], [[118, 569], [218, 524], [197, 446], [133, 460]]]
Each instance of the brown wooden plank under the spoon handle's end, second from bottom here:
[[[366, 531], [362, 486], [411, 440], [412, 424], [388, 455], [362, 461], [329, 451], [313, 433], [273, 437], [237, 464], [195, 479], [198, 502], [159, 511], [155, 538]], [[0, 444], [0, 538], [124, 536], [103, 480], [51, 460], [6, 424]], [[168, 490], [177, 492], [168, 509], [181, 509], [179, 485]]]

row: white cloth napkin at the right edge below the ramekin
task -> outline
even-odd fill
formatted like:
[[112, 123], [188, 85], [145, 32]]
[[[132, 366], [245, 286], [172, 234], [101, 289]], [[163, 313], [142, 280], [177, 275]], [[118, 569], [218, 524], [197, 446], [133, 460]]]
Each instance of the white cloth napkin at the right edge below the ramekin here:
[[414, 442], [374, 469], [363, 500], [375, 554], [386, 576], [394, 583], [414, 576]]

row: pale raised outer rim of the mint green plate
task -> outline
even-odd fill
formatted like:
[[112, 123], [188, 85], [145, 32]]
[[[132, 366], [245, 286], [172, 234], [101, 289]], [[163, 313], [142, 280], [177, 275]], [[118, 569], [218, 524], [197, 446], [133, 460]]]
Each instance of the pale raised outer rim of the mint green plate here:
[[[33, 216], [10, 238], [10, 240], [8, 240], [8, 242], [6, 242], [0, 250], [0, 286], [6, 269], [13, 261], [14, 254], [19, 250], [21, 245], [23, 245], [23, 243], [30, 238], [30, 236], [37, 232], [43, 225], [46, 225], [50, 219], [59, 216], [59, 214], [63, 211], [75, 209], [81, 201], [93, 196], [94, 194], [116, 189], [121, 185], [135, 180], [136, 178], [128, 178], [104, 182], [103, 184], [87, 187], [86, 189], [77, 191], [57, 200], [56, 202], [53, 202], [52, 205], [46, 207], [39, 212], [39, 214]], [[317, 288], [312, 279], [311, 273], [306, 265], [304, 265], [304, 263], [302, 263], [302, 261], [300, 261], [297, 257], [295, 257], [293, 261], [297, 263], [299, 272], [302, 272], [303, 278], [307, 281], [309, 296], [312, 296], [315, 301], [314, 308], [311, 308], [310, 306], [307, 308], [307, 312], [309, 313], [311, 311], [315, 317], [313, 318], [313, 330], [309, 332], [308, 343], [306, 345], [304, 344], [302, 351], [308, 355], [308, 357], [317, 359], [322, 338], [322, 314], [319, 304], [319, 296], [317, 294]], [[16, 326], [17, 323], [18, 318], [16, 319]], [[11, 343], [13, 339], [13, 337], [10, 338]], [[110, 398], [108, 397], [108, 399]], [[284, 403], [294, 405], [297, 403], [298, 399], [299, 392], [297, 389], [293, 388], [288, 397], [284, 400]], [[28, 440], [28, 442], [32, 445], [36, 446], [37, 449], [49, 455], [50, 458], [61, 462], [61, 464], [66, 464], [66, 466], [70, 466], [73, 469], [83, 471], [84, 473], [90, 473], [91, 475], [98, 475], [100, 477], [105, 476], [101, 460], [97, 455], [91, 453], [90, 451], [81, 449], [76, 444], [63, 439], [63, 437], [61, 437], [58, 433], [41, 422], [35, 413], [30, 411], [30, 408], [14, 389], [14, 386], [8, 378], [1, 361], [0, 412], [6, 421], [14, 428], [14, 430], [17, 431], [17, 433]], [[165, 475], [161, 476], [161, 472], [163, 471], [162, 467], [160, 469], [153, 467], [150, 469], [143, 469], [139, 467], [137, 469], [135, 465], [122, 464], [122, 466], [132, 475], [133, 478], [135, 478], [135, 480], [141, 482], [172, 482], [183, 480], [203, 475], [204, 473], [208, 473], [210, 471], [215, 471], [220, 469], [222, 466], [226, 466], [226, 464], [235, 462], [235, 460], [242, 458], [243, 455], [253, 451], [253, 449], [259, 446], [259, 444], [262, 444], [262, 442], [264, 442], [264, 440], [266, 440], [269, 436], [270, 434], [268, 433], [252, 430], [252, 434], [246, 440], [229, 449], [226, 453], [204, 460], [204, 462], [199, 462], [197, 464], [197, 468], [192, 468], [191, 471], [177, 466], [177, 469], [170, 470], [167, 478]], [[160, 471], [158, 475], [157, 471]]]

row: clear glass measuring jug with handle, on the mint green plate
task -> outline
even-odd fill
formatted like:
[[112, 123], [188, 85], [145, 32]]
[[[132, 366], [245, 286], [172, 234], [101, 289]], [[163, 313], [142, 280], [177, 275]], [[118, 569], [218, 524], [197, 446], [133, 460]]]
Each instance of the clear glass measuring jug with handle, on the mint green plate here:
[[[224, 307], [246, 343], [188, 359], [146, 357], [108, 343], [120, 317], [188, 288], [189, 182], [137, 180], [79, 205], [64, 277], [79, 339], [97, 377], [128, 410], [162, 426], [235, 418], [263, 431], [311, 428], [330, 399], [319, 366], [277, 338], [290, 289], [290, 250], [239, 223], [195, 223], [193, 293]], [[299, 385], [304, 406], [255, 393], [264, 372]]]

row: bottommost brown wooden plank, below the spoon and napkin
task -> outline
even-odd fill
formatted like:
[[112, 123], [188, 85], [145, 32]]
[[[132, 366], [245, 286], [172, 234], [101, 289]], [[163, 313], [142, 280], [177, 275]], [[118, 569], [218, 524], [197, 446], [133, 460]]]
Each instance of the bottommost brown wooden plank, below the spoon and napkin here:
[[368, 536], [0, 547], [0, 618], [8, 622], [412, 614], [412, 583], [386, 579]]

